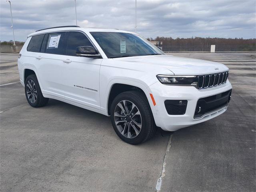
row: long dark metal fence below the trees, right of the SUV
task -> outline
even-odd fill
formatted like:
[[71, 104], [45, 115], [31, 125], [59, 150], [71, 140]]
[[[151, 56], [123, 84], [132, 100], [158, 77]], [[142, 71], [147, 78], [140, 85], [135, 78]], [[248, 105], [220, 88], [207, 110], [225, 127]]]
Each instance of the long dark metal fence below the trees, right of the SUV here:
[[[164, 52], [210, 52], [210, 45], [162, 45]], [[229, 45], [216, 45], [215, 52], [256, 52], [256, 46], [229, 46]]]

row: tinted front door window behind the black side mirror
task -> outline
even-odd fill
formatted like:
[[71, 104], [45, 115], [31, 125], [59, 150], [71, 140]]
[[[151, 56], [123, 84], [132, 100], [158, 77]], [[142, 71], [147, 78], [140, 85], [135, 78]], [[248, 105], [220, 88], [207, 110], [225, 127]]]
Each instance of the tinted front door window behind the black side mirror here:
[[90, 40], [81, 32], [69, 32], [67, 55], [76, 56], [76, 48], [80, 46], [92, 46]]

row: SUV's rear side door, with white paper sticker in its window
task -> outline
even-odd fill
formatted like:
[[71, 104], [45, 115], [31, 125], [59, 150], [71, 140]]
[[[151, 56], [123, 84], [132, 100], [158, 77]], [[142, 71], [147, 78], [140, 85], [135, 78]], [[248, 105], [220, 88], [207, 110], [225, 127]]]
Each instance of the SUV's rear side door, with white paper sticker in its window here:
[[38, 53], [38, 75], [42, 93], [64, 98], [62, 68], [66, 64], [66, 34], [54, 32], [44, 36]]

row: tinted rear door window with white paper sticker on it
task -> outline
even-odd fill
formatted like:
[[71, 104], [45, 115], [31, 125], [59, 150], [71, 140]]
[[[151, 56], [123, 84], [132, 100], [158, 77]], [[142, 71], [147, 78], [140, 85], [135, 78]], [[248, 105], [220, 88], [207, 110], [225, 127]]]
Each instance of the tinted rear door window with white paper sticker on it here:
[[45, 52], [65, 55], [65, 35], [66, 32], [50, 33], [46, 41]]

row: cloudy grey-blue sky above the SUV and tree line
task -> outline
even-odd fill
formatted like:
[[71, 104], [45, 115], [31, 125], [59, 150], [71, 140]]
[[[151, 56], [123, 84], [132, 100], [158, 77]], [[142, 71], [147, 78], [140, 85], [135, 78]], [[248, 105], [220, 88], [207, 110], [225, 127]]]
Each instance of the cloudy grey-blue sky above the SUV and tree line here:
[[[16, 40], [35, 30], [75, 25], [74, 0], [11, 0]], [[134, 31], [135, 0], [76, 0], [78, 26]], [[10, 6], [0, 0], [0, 40], [12, 40]], [[137, 0], [144, 37], [256, 38], [255, 0]]]

